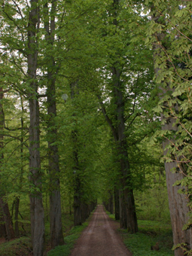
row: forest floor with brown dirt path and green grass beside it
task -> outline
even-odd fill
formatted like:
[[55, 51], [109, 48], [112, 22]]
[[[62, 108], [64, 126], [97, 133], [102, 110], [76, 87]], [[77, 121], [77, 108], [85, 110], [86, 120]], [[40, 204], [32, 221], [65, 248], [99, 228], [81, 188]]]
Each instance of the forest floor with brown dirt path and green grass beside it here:
[[[62, 215], [65, 230], [65, 245], [50, 250], [50, 235], [47, 222], [46, 251], [49, 256], [131, 256], [132, 254], [149, 256], [172, 256], [172, 228], [162, 221], [139, 220], [139, 232], [127, 233], [119, 228], [114, 215], [105, 214], [103, 206], [97, 206], [87, 221], [78, 227], [72, 227], [73, 216]], [[26, 230], [30, 230], [30, 227]], [[123, 242], [126, 245], [123, 245]], [[151, 251], [151, 246], [159, 244], [158, 251]], [[128, 251], [126, 248], [129, 248]], [[72, 252], [71, 252], [72, 251]], [[0, 256], [32, 256], [30, 236], [20, 236], [6, 241], [0, 238]]]

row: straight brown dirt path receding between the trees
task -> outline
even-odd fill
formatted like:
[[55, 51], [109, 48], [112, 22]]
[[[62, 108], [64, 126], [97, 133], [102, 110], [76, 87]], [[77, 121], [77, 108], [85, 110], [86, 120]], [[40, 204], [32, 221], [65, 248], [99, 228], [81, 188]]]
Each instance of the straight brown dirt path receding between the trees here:
[[71, 256], [131, 256], [115, 232], [117, 228], [117, 224], [106, 215], [103, 206], [97, 206]]

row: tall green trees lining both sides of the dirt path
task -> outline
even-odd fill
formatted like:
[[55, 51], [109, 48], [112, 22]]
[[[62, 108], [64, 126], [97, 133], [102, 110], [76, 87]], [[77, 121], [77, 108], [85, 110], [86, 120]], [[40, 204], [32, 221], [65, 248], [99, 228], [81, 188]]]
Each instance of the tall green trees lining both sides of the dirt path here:
[[190, 250], [190, 8], [184, 1], [2, 1], [0, 203], [8, 238], [6, 196], [16, 195], [18, 233], [24, 191], [33, 253], [44, 254], [48, 193], [51, 246], [62, 245], [66, 187], [75, 225], [106, 191], [115, 195], [120, 227], [136, 233], [133, 191], [160, 166], [151, 146], [163, 141], [175, 256]]

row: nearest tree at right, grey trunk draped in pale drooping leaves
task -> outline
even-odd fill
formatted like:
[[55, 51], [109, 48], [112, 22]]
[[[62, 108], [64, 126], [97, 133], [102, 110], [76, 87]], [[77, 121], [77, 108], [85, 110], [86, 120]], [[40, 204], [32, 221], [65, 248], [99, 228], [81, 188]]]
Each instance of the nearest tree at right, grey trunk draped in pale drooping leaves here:
[[183, 186], [188, 189], [188, 183], [182, 181], [190, 173], [183, 149], [189, 141], [187, 133], [190, 133], [185, 128], [190, 120], [190, 6], [190, 2], [169, 2], [163, 5], [153, 3], [148, 32], [154, 48], [154, 71], [160, 89], [160, 102], [156, 110], [163, 120], [160, 135], [164, 139], [166, 184], [175, 256], [184, 255], [184, 251], [191, 249], [192, 244], [188, 216], [190, 197], [181, 193]]

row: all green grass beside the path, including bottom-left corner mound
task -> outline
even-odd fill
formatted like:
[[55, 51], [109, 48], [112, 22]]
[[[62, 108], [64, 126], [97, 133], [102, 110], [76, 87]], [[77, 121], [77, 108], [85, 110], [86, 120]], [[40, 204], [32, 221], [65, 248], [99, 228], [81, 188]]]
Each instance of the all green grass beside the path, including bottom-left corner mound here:
[[[114, 215], [109, 214], [114, 219]], [[89, 219], [82, 226], [70, 227], [72, 225], [71, 216], [65, 216], [64, 221], [66, 227], [65, 245], [57, 246], [55, 249], [48, 251], [47, 256], [69, 256], [75, 242], [81, 235], [85, 227], [87, 227]], [[90, 216], [91, 217], [91, 216]], [[172, 229], [170, 224], [163, 221], [138, 221], [139, 232], [136, 234], [127, 233], [126, 230], [119, 230], [123, 237], [123, 242], [132, 252], [133, 256], [172, 256]], [[48, 230], [47, 230], [48, 231]], [[49, 236], [46, 237], [49, 239]], [[151, 246], [159, 243], [159, 251], [151, 251]], [[4, 242], [0, 245], [1, 256], [25, 256], [32, 252], [32, 242], [29, 237], [23, 236], [10, 242]]]

